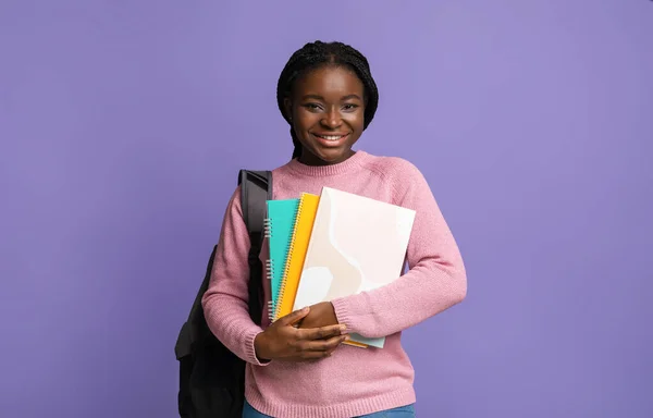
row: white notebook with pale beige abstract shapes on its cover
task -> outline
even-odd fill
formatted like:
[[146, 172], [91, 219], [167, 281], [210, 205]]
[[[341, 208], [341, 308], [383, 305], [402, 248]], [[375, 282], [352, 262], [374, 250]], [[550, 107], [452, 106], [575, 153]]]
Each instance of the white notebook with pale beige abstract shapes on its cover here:
[[[415, 211], [323, 187], [293, 309], [387, 285], [404, 267]], [[352, 334], [382, 348], [381, 339]]]

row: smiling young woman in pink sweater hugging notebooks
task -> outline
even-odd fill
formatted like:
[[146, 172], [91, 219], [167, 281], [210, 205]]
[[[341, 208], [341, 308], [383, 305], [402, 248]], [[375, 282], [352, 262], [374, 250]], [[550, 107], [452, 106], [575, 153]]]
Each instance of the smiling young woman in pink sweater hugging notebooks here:
[[[367, 59], [341, 42], [307, 44], [281, 73], [278, 104], [295, 151], [273, 171], [274, 198], [319, 195], [329, 186], [417, 214], [409, 271], [397, 281], [274, 323], [263, 318], [258, 327], [247, 311], [249, 243], [235, 190], [204, 308], [217, 337], [247, 361], [244, 418], [414, 417], [414, 369], [402, 331], [465, 298], [458, 247], [418, 169], [399, 158], [353, 150], [378, 101]], [[342, 345], [347, 332], [385, 336], [385, 346]]]

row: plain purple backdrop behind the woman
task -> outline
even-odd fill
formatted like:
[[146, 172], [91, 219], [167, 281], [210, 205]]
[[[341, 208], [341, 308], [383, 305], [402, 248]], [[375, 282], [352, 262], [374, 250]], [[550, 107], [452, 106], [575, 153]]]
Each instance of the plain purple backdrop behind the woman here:
[[360, 147], [423, 171], [468, 268], [405, 334], [418, 416], [652, 417], [646, 0], [2, 0], [0, 415], [176, 416], [236, 171], [288, 159], [275, 83], [317, 38], [369, 58]]

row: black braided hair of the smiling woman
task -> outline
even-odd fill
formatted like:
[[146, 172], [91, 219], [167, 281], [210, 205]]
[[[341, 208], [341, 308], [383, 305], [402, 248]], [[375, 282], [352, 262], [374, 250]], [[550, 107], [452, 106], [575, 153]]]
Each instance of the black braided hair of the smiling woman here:
[[362, 53], [353, 47], [343, 42], [322, 42], [315, 41], [306, 44], [301, 49], [295, 51], [291, 56], [285, 67], [279, 76], [276, 84], [276, 103], [281, 114], [291, 125], [291, 136], [293, 137], [293, 158], [298, 158], [301, 155], [301, 144], [295, 134], [291, 115], [287, 114], [284, 99], [289, 98], [293, 93], [295, 82], [311, 70], [316, 70], [324, 65], [344, 66], [347, 67], [360, 78], [364, 86], [364, 131], [368, 127], [379, 104], [379, 90], [377, 83], [372, 78], [370, 65]]

